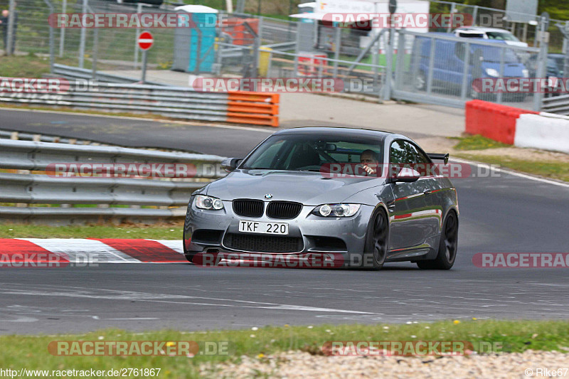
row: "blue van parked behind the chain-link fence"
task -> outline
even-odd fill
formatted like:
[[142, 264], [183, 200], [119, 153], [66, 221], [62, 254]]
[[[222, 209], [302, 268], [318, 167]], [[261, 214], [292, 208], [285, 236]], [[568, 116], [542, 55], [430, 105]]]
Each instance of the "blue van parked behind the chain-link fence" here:
[[[415, 90], [426, 90], [429, 73], [431, 41], [433, 34], [451, 36], [449, 33], [425, 33], [425, 37], [415, 38], [410, 71], [415, 73]], [[458, 40], [435, 38], [435, 56], [432, 60], [432, 85], [439, 90], [456, 93], [462, 87], [464, 78], [464, 59], [466, 58], [466, 43]], [[472, 98], [492, 97], [491, 94], [481, 96], [473, 87], [477, 78], [529, 78], [529, 72], [514, 50], [508, 48], [504, 41], [492, 41], [496, 46], [477, 44], [476, 41], [489, 42], [483, 38], [473, 38], [469, 41], [469, 62], [467, 70], [467, 95]], [[504, 50], [504, 71], [500, 74], [500, 61]], [[509, 95], [509, 94], [505, 94]], [[516, 94], [516, 97], [525, 95]]]

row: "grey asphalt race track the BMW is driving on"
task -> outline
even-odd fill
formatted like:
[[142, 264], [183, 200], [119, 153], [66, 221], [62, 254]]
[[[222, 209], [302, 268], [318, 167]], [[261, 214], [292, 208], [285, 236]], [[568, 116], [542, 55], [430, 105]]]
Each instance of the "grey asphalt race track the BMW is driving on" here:
[[[0, 113], [0, 129], [6, 129], [4, 115]], [[23, 122], [19, 119], [11, 127]], [[233, 155], [245, 154], [267, 135], [231, 130], [248, 139], [236, 144], [217, 138], [212, 144], [222, 145], [222, 151], [233, 149]], [[0, 332], [567, 319], [568, 269], [472, 264], [477, 252], [569, 252], [568, 186], [499, 174], [453, 180], [460, 206], [459, 255], [447, 272], [408, 263], [386, 265], [380, 272], [186, 264], [0, 269]]]

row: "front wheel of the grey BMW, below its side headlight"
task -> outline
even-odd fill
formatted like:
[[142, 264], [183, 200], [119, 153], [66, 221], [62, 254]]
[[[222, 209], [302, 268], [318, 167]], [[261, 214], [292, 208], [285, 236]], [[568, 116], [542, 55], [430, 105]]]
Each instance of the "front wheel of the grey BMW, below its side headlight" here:
[[363, 248], [361, 268], [378, 270], [383, 267], [387, 257], [389, 240], [389, 222], [382, 208], [373, 212], [366, 232], [366, 244]]

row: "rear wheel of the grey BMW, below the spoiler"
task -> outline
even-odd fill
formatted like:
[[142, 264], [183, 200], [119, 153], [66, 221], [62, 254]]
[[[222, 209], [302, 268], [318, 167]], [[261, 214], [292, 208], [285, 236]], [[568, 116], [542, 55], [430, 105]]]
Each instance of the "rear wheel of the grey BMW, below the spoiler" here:
[[457, 259], [458, 217], [450, 210], [440, 233], [439, 252], [434, 260], [418, 260], [420, 269], [450, 269]]

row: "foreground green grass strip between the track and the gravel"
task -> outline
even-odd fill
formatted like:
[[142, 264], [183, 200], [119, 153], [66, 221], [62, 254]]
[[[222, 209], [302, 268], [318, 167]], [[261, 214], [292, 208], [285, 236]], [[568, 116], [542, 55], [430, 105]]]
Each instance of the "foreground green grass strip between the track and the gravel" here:
[[[455, 321], [456, 322], [456, 321]], [[196, 341], [203, 351], [205, 341], [227, 342], [227, 355], [186, 356], [52, 356], [51, 341]], [[161, 368], [160, 378], [197, 378], [198, 365], [238, 361], [242, 355], [266, 359], [270, 353], [302, 350], [319, 354], [327, 341], [469, 341], [474, 350], [494, 343], [503, 353], [528, 349], [566, 352], [569, 346], [568, 321], [452, 321], [435, 324], [378, 324], [339, 326], [258, 326], [258, 330], [96, 331], [64, 336], [0, 336], [0, 367], [40, 370], [109, 370], [120, 368]], [[487, 346], [487, 345], [486, 345]], [[261, 355], [262, 354], [262, 355]]]

